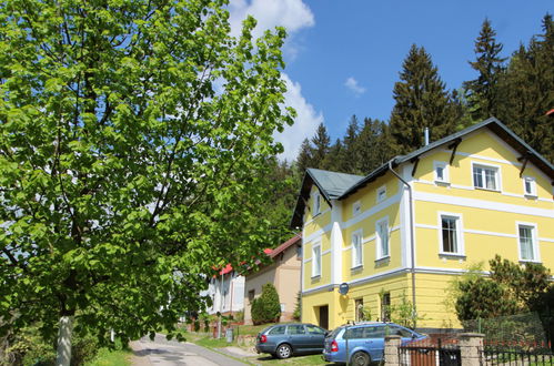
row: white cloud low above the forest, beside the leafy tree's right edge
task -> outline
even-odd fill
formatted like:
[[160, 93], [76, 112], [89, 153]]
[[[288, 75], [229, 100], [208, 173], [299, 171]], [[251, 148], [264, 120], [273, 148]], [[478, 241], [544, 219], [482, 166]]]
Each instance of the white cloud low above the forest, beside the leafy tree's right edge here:
[[296, 110], [296, 118], [293, 125], [285, 126], [284, 131], [275, 133], [274, 138], [284, 148], [280, 157], [290, 162], [296, 159], [302, 141], [314, 135], [318, 125], [323, 122], [323, 114], [316, 112], [302, 96], [300, 83], [293, 82], [285, 73], [282, 73], [282, 77], [286, 82], [285, 105]]

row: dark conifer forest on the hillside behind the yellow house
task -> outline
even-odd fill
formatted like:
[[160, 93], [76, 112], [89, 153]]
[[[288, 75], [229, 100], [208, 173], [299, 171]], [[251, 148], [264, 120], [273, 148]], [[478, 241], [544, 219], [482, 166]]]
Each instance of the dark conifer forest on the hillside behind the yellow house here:
[[554, 21], [542, 19], [542, 32], [510, 58], [488, 19], [474, 41], [469, 67], [477, 78], [447, 90], [431, 54], [413, 44], [394, 84], [395, 105], [387, 121], [352, 115], [342, 139], [332, 142], [324, 124], [303, 141], [292, 162], [271, 162], [275, 181], [269, 212], [272, 245], [285, 241], [306, 167], [366, 175], [399, 154], [421, 148], [429, 128], [432, 141], [495, 116], [550, 162], [554, 161]]

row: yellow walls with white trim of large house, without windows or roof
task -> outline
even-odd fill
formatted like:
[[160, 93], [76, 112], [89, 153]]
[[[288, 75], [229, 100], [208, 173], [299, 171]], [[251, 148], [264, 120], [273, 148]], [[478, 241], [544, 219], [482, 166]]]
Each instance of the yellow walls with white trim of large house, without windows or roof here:
[[[395, 169], [413, 189], [419, 327], [460, 327], [452, 306], [451, 288], [456, 276], [470, 266], [482, 263], [486, 273], [488, 261], [496, 254], [524, 263], [520, 255], [518, 223], [535, 225], [538, 248], [535, 262], [554, 268], [554, 202], [548, 177], [527, 163], [523, 176], [535, 180], [536, 197], [526, 196], [520, 176], [523, 167], [520, 154], [487, 129], [464, 136], [452, 164], [451, 155], [451, 150], [441, 146], [420, 156], [415, 171], [413, 163]], [[436, 162], [447, 164], [447, 184], [435, 182]], [[473, 164], [496, 166], [500, 189], [474, 187]], [[375, 193], [383, 185], [386, 186], [386, 200], [377, 203]], [[362, 210], [354, 215], [356, 202], [361, 202]], [[393, 305], [400, 304], [402, 298], [412, 302], [407, 190], [395, 176], [386, 173], [347, 199], [333, 203], [329, 216], [316, 216], [304, 226], [302, 321], [319, 324], [318, 309], [328, 305], [329, 327], [334, 328], [355, 318], [356, 298], [363, 298], [364, 307], [371, 309], [374, 321], [381, 312], [381, 292], [391, 294]], [[309, 206], [311, 204], [309, 202]], [[441, 214], [460, 217], [463, 251], [457, 255], [441, 253]], [[387, 260], [376, 261], [375, 222], [383, 216], [389, 217], [391, 255]], [[309, 217], [308, 213], [305, 217]], [[319, 231], [313, 228], [315, 226]], [[333, 234], [336, 227], [339, 234]], [[353, 270], [351, 242], [352, 233], [357, 230], [362, 230], [364, 238], [363, 266]], [[329, 260], [322, 257], [322, 274], [312, 278], [311, 248], [319, 241], [328, 248]], [[338, 242], [341, 251], [334, 250]], [[341, 275], [333, 275], [339, 270]], [[341, 283], [350, 285], [347, 295], [339, 294]]]

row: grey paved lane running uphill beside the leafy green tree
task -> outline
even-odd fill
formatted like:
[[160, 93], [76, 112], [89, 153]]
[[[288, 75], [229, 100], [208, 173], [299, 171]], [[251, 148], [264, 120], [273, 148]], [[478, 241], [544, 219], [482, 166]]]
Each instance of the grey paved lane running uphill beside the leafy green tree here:
[[144, 337], [131, 342], [134, 366], [243, 366], [246, 365], [195, 344], [167, 340], [163, 335], [155, 335], [154, 340]]

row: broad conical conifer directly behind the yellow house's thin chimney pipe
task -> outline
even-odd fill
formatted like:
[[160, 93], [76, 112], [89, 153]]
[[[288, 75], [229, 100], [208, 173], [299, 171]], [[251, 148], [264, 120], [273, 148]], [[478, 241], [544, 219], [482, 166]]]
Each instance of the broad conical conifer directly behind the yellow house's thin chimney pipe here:
[[425, 128], [433, 140], [452, 133], [457, 119], [451, 95], [423, 47], [412, 44], [402, 67], [401, 81], [394, 84], [396, 104], [390, 121], [394, 149], [400, 154], [423, 145]]

